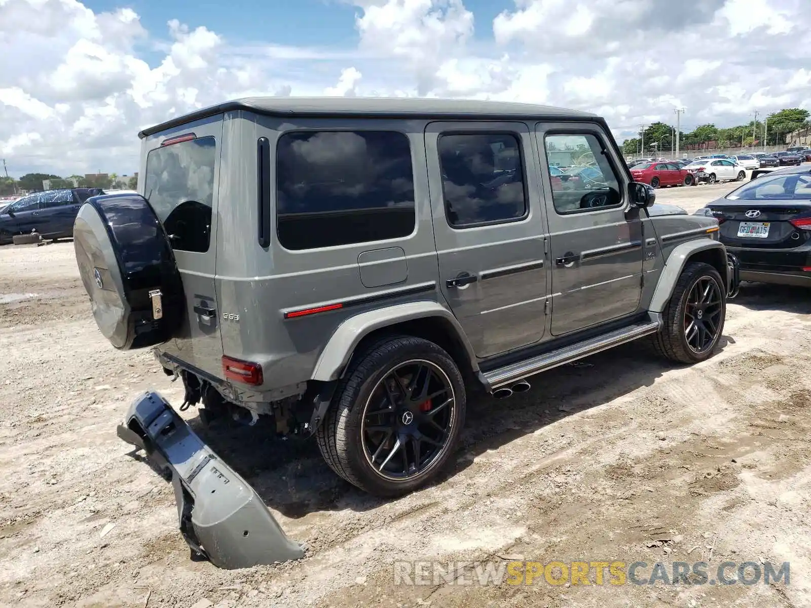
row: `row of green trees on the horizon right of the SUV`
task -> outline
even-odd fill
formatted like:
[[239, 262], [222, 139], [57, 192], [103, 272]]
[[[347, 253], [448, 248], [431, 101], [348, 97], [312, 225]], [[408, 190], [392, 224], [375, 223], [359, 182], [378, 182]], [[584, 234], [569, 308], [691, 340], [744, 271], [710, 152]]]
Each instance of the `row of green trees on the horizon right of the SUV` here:
[[[753, 144], [758, 146], [779, 146], [785, 143], [786, 135], [800, 129], [811, 129], [809, 111], [801, 108], [781, 109], [771, 113], [766, 121], [750, 121], [745, 125], [730, 126], [719, 129], [712, 123], [699, 125], [693, 131], [679, 131], [679, 148], [695, 150], [701, 148], [745, 148]], [[763, 139], [766, 129], [766, 139]], [[642, 137], [644, 135], [644, 138]], [[664, 122], [654, 122], [645, 131], [639, 131], [637, 137], [625, 139], [622, 151], [625, 154], [652, 151], [672, 151], [676, 148], [675, 126]], [[811, 139], [811, 138], [808, 138]], [[645, 149], [642, 150], [642, 141]]]

